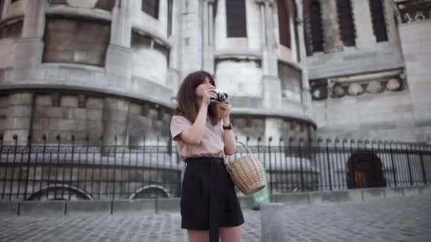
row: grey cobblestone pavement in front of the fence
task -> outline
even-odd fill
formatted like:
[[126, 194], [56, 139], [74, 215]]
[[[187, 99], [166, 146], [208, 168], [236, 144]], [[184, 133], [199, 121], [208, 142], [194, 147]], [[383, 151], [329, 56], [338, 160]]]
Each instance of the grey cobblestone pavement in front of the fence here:
[[[298, 205], [286, 207], [285, 212], [288, 241], [431, 238], [431, 195], [359, 204]], [[245, 211], [245, 220], [243, 241], [260, 241], [259, 212]], [[0, 241], [187, 241], [179, 224], [179, 214], [0, 217]]]

